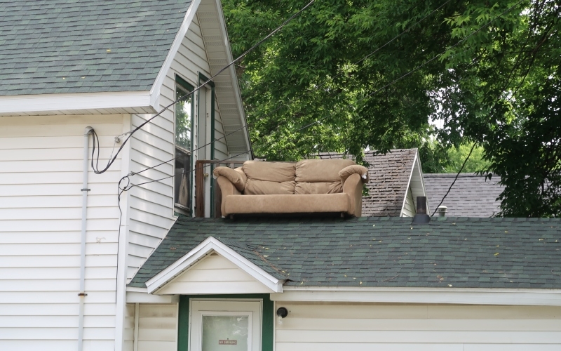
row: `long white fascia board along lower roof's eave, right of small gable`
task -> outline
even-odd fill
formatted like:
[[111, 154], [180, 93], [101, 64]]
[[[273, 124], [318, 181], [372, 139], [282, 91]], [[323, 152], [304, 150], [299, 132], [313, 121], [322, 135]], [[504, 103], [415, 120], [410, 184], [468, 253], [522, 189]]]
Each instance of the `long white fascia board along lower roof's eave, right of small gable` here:
[[274, 301], [561, 306], [560, 289], [350, 288], [285, 286]]

